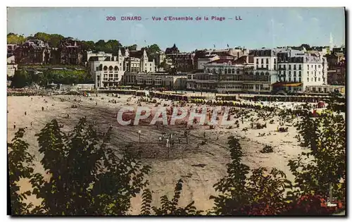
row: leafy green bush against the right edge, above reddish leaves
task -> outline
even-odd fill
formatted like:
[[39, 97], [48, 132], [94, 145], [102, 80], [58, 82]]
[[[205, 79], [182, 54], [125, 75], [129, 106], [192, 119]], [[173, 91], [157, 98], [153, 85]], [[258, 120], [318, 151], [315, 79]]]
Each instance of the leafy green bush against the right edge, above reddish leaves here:
[[[320, 118], [305, 117], [297, 125], [303, 144], [310, 150], [298, 159], [289, 161], [300, 192], [328, 196], [329, 184], [334, 197], [344, 201], [346, 181], [346, 122], [344, 118], [327, 112]], [[308, 130], [309, 129], [309, 130]], [[309, 160], [309, 161], [308, 161]], [[307, 163], [308, 162], [308, 163]], [[294, 194], [292, 194], [294, 195]]]

